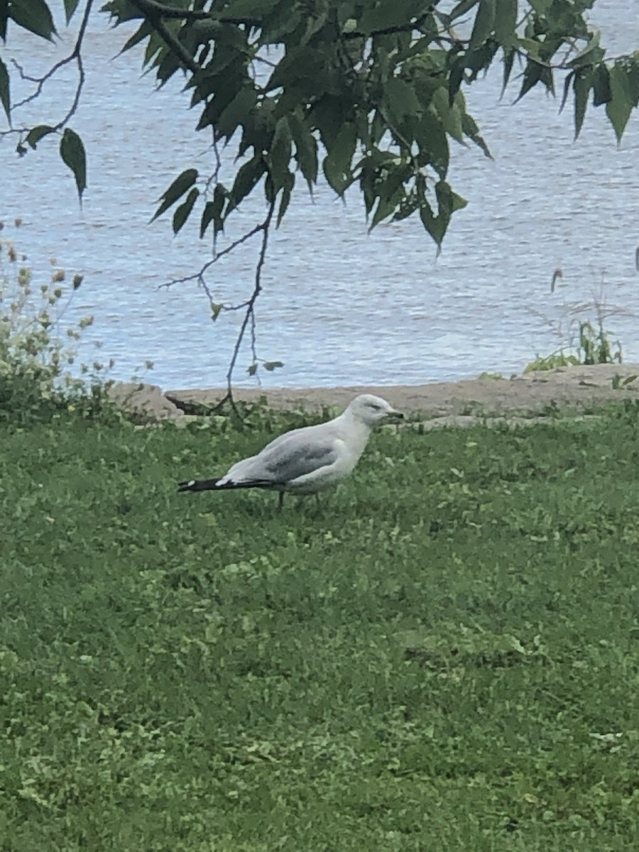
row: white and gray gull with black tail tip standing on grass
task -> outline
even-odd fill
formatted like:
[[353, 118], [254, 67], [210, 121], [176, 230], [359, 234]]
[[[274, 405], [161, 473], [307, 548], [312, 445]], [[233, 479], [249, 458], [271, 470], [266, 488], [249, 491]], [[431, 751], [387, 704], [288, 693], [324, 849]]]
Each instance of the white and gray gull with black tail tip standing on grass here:
[[360, 460], [377, 423], [404, 417], [381, 396], [360, 394], [333, 420], [279, 435], [256, 456], [243, 458], [217, 479], [180, 482], [178, 492], [266, 488], [284, 493], [317, 494], [337, 485]]

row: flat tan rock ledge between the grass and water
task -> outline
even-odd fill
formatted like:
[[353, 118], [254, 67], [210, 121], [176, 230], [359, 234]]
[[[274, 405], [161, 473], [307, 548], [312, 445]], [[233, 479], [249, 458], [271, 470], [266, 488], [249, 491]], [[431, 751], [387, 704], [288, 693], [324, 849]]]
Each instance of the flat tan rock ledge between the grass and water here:
[[[157, 385], [129, 382], [115, 383], [109, 393], [124, 409], [164, 420], [185, 417], [199, 406], [215, 406], [226, 391], [213, 388], [163, 392]], [[448, 421], [469, 416], [533, 416], [557, 407], [562, 412], [574, 409], [579, 413], [607, 400], [639, 399], [639, 364], [558, 367], [510, 378], [481, 377], [421, 385], [236, 389], [233, 395], [236, 400], [245, 402], [266, 399], [274, 408], [317, 411], [323, 406], [345, 406], [356, 394], [362, 393], [384, 396], [407, 414]]]

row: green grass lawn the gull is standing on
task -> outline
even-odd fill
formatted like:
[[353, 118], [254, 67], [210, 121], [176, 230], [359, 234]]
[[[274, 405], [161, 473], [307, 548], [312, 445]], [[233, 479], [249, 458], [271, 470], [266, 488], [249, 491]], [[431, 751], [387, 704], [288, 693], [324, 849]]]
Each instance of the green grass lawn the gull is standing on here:
[[[291, 421], [288, 421], [291, 423]], [[596, 852], [639, 837], [639, 435], [0, 428], [0, 850]]]

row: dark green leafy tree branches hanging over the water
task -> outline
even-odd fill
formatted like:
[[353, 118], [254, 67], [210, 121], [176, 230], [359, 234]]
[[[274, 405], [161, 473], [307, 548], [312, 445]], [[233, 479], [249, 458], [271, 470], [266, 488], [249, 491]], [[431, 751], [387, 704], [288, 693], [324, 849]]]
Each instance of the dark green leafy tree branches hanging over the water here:
[[[502, 67], [503, 94], [512, 89], [517, 101], [539, 86], [561, 95], [561, 108], [572, 101], [575, 138], [589, 103], [605, 108], [618, 140], [639, 103], [639, 51], [607, 55], [588, 20], [596, 0], [108, 0], [101, 9], [94, 0], [63, 3], [67, 25], [80, 20], [77, 40], [43, 78], [32, 78], [31, 97], [54, 84], [60, 66], [75, 62], [75, 99], [55, 125], [16, 124], [15, 71], [0, 57], [0, 101], [9, 119], [3, 135], [17, 137], [20, 155], [59, 135], [60, 156], [81, 196], [86, 158], [71, 124], [82, 97], [89, 15], [107, 14], [115, 26], [135, 22], [122, 50], [144, 45], [144, 65], [160, 87], [181, 76], [212, 151], [210, 170], [182, 171], [156, 216], [171, 210], [176, 233], [198, 216], [200, 236], [212, 235], [215, 262], [215, 240], [229, 216], [251, 193], [263, 193], [266, 217], [239, 240], [262, 234], [247, 323], [269, 228], [282, 221], [300, 181], [312, 193], [323, 177], [338, 196], [359, 187], [371, 227], [419, 216], [441, 245], [452, 214], [466, 204], [448, 182], [451, 143], [471, 143], [490, 157], [464, 90], [493, 63]], [[0, 7], [5, 43], [14, 27], [56, 36], [45, 0]], [[19, 66], [17, 72], [24, 76]], [[225, 182], [227, 162], [234, 166]], [[214, 319], [223, 307], [211, 301]]]

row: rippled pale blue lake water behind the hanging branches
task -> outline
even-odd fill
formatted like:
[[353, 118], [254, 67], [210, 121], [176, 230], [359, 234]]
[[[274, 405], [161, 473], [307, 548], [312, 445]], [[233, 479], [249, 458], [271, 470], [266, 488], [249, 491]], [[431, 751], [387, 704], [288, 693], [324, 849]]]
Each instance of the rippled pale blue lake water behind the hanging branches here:
[[[636, 0], [598, 0], [593, 20], [610, 55], [639, 48]], [[77, 25], [76, 25], [77, 26]], [[3, 60], [14, 56], [31, 74], [66, 55], [65, 43], [9, 32]], [[128, 379], [153, 360], [148, 380], [164, 388], [215, 387], [225, 382], [241, 315], [210, 321], [197, 285], [159, 289], [196, 272], [210, 256], [197, 228], [172, 236], [170, 218], [147, 224], [157, 199], [181, 170], [211, 164], [207, 137], [195, 135], [195, 112], [173, 82], [159, 92], [141, 77], [141, 51], [116, 57], [127, 31], [107, 29], [94, 14], [85, 43], [87, 80], [71, 126], [89, 158], [89, 186], [78, 207], [71, 173], [55, 141], [18, 158], [13, 137], [0, 139], [0, 220], [36, 273], [51, 274], [55, 257], [71, 277], [83, 273], [65, 320], [95, 315], [80, 355], [116, 360], [112, 376]], [[314, 202], [300, 193], [273, 234], [257, 308], [257, 352], [285, 367], [262, 371], [269, 386], [423, 383], [521, 371], [536, 353], [565, 343], [567, 310], [603, 299], [617, 308], [607, 320], [625, 360], [639, 361], [639, 116], [630, 118], [618, 148], [602, 108], [589, 107], [573, 142], [573, 114], [539, 91], [512, 106], [515, 87], [499, 101], [501, 67], [467, 90], [495, 158], [452, 142], [449, 180], [469, 206], [458, 212], [443, 251], [418, 222], [367, 233], [363, 204], [347, 204], [320, 187]], [[20, 118], [55, 123], [71, 101], [74, 72], [65, 69]], [[13, 100], [28, 94], [24, 83]], [[2, 127], [0, 127], [2, 129]], [[25, 224], [9, 227], [20, 216]], [[250, 204], [227, 235], [259, 221]], [[223, 243], [219, 246], [223, 247]], [[256, 242], [228, 256], [209, 283], [219, 302], [241, 302], [252, 291]], [[556, 268], [563, 278], [554, 294]], [[561, 325], [557, 331], [556, 325]], [[245, 374], [246, 348], [238, 383]]]

